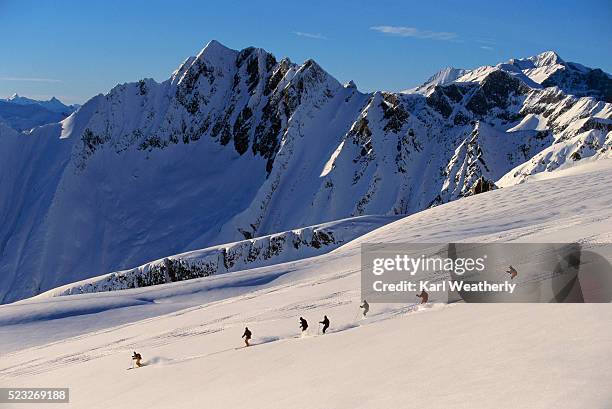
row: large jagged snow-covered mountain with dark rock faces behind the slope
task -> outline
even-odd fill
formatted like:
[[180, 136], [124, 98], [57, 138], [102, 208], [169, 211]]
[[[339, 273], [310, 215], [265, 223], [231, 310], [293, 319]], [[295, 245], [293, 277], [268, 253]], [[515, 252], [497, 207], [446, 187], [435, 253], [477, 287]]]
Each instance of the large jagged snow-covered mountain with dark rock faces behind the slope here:
[[426, 94], [364, 94], [313, 60], [212, 41], [167, 81], [118, 85], [0, 139], [0, 300], [609, 156], [612, 105], [598, 98], [510, 63]]

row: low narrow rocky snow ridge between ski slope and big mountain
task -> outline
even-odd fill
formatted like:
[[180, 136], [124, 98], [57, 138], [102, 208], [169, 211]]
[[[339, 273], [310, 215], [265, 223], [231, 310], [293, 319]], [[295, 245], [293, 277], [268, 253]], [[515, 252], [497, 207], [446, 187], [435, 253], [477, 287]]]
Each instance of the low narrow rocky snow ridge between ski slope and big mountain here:
[[38, 297], [142, 288], [313, 257], [397, 219], [393, 216], [359, 216], [190, 251], [133, 269], [67, 284]]

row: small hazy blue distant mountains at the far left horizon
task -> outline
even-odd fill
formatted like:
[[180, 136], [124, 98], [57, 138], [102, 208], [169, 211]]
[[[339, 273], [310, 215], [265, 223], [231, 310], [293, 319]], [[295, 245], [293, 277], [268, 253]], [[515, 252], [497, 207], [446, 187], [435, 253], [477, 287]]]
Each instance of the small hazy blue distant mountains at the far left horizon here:
[[13, 94], [10, 98], [0, 99], [0, 122], [18, 131], [25, 131], [59, 122], [79, 106], [65, 105], [55, 97], [48, 101], [38, 101]]

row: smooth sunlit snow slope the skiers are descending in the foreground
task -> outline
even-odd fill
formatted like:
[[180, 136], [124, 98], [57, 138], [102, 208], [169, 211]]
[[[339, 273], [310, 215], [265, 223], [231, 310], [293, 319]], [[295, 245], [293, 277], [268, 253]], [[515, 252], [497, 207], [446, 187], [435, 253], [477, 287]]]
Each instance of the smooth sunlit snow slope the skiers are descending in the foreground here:
[[[75, 408], [603, 408], [609, 305], [377, 304], [357, 319], [363, 242], [611, 242], [612, 160], [548, 176], [314, 258], [1, 306], [0, 348], [13, 351], [1, 382], [69, 386]], [[323, 314], [330, 333], [317, 336]], [[311, 329], [296, 338], [300, 315]], [[255, 346], [235, 349], [245, 325]], [[133, 350], [147, 366], [126, 371]]]

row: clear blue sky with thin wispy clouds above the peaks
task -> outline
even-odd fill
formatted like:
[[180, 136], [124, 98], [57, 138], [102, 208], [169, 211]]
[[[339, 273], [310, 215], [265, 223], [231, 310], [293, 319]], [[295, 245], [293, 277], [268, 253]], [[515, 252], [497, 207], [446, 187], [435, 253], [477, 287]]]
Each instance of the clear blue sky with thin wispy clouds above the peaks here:
[[82, 103], [117, 83], [163, 81], [211, 39], [314, 58], [364, 91], [549, 49], [612, 72], [611, 22], [610, 0], [0, 0], [0, 97]]

